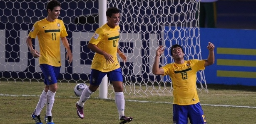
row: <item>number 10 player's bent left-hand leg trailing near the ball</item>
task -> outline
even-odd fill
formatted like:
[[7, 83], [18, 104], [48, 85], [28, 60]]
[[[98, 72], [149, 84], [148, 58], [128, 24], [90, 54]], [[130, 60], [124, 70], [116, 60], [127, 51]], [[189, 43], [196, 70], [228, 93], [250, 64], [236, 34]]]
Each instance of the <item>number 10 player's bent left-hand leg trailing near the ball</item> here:
[[80, 97], [80, 100], [77, 101], [76, 103], [77, 115], [81, 119], [84, 118], [84, 105], [86, 100], [88, 100], [90, 98], [90, 95], [92, 95], [92, 93], [94, 93], [97, 90], [97, 88], [99, 87], [99, 84], [101, 83], [102, 79], [106, 74], [107, 73], [105, 72], [100, 72], [98, 70], [92, 69], [91, 77], [90, 77], [90, 85], [84, 89]]

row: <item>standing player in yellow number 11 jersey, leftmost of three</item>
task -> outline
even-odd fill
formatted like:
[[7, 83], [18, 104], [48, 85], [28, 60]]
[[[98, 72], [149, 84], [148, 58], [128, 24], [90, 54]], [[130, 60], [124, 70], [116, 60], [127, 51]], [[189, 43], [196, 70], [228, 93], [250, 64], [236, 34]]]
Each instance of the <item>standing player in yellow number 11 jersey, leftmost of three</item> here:
[[[40, 95], [37, 106], [32, 113], [32, 119], [36, 124], [42, 124], [40, 112], [46, 104], [45, 122], [54, 124], [52, 121], [52, 107], [57, 91], [57, 80], [60, 74], [60, 39], [67, 50], [66, 59], [69, 64], [72, 62], [72, 52], [67, 41], [67, 31], [63, 21], [57, 19], [60, 15], [60, 2], [50, 0], [47, 3], [47, 17], [35, 22], [27, 37], [27, 46], [33, 57], [39, 57], [40, 68], [44, 75], [45, 89]], [[32, 38], [38, 38], [40, 52], [32, 47]]]

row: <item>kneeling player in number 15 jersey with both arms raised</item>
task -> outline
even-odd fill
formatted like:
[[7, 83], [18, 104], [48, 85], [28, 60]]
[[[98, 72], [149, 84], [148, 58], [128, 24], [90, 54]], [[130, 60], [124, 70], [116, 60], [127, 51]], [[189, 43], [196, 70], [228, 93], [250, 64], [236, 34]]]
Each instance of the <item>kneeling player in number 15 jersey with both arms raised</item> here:
[[159, 68], [159, 58], [164, 52], [164, 46], [159, 46], [152, 67], [155, 75], [169, 75], [173, 86], [173, 123], [206, 124], [204, 112], [199, 103], [196, 91], [196, 72], [214, 64], [214, 44], [209, 42], [207, 60], [184, 60], [183, 48], [176, 44], [171, 46], [171, 56], [174, 63]]

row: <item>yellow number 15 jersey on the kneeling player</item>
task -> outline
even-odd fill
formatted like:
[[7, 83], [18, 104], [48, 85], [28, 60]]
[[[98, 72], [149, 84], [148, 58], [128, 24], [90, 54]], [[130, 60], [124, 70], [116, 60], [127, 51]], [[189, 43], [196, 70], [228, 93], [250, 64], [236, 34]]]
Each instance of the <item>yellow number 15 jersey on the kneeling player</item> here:
[[174, 104], [193, 105], [199, 102], [196, 91], [196, 72], [203, 70], [205, 60], [188, 60], [184, 64], [171, 63], [164, 67], [164, 75], [171, 77]]

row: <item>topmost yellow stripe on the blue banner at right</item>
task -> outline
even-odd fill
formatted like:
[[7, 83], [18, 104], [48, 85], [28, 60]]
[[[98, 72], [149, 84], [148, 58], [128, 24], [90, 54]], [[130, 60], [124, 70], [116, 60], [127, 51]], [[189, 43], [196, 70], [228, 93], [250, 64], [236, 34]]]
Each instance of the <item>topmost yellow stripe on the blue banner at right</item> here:
[[217, 54], [256, 55], [256, 49], [217, 48]]

